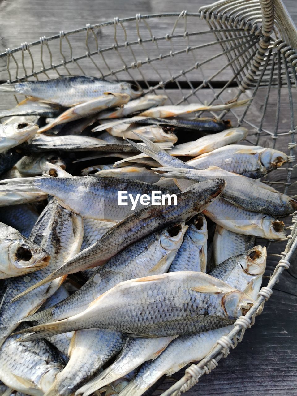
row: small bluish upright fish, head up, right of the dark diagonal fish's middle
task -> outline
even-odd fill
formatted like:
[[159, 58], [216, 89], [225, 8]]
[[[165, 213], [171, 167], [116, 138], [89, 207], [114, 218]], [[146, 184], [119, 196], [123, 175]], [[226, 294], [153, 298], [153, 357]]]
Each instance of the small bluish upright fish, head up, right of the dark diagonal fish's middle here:
[[188, 227], [183, 243], [173, 260], [169, 271], [206, 272], [207, 262], [207, 223], [204, 215], [199, 214]]

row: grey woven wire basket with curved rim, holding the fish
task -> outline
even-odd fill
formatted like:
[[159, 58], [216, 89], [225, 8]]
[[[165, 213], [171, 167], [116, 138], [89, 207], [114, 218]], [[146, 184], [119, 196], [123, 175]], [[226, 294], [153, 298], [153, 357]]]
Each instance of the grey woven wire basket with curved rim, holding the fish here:
[[[221, 0], [198, 13], [182, 11], [140, 15], [89, 25], [0, 54], [2, 81], [47, 79], [85, 74], [133, 82], [144, 93], [166, 93], [170, 103], [226, 103], [251, 98], [246, 107], [228, 110], [233, 126], [246, 126], [247, 142], [288, 154], [287, 169], [265, 177], [265, 183], [292, 194], [295, 170], [294, 103], [297, 103], [297, 30], [281, 0]], [[177, 71], [178, 70], [178, 71]], [[215, 72], [213, 71], [215, 70]], [[4, 103], [7, 109], [11, 97]], [[15, 95], [15, 100], [19, 100]], [[295, 109], [296, 106], [295, 106]], [[296, 113], [296, 110], [295, 110]], [[198, 115], [200, 115], [199, 113]], [[217, 118], [227, 115], [211, 113]], [[261, 240], [280, 258], [257, 302], [234, 323], [227, 336], [162, 396], [179, 395], [209, 373], [253, 325], [257, 309], [272, 294], [297, 246], [297, 211], [291, 233], [280, 244]], [[271, 253], [270, 253], [271, 255]]]

